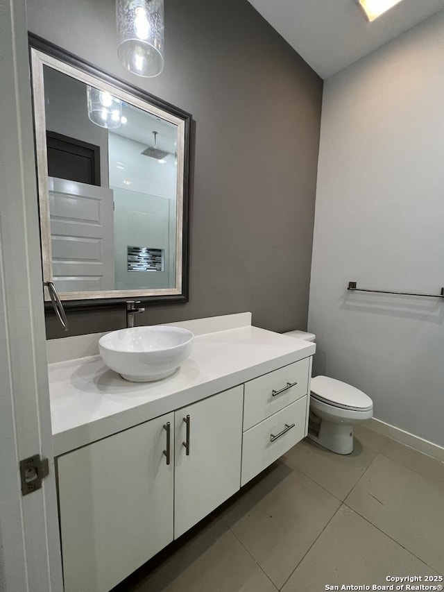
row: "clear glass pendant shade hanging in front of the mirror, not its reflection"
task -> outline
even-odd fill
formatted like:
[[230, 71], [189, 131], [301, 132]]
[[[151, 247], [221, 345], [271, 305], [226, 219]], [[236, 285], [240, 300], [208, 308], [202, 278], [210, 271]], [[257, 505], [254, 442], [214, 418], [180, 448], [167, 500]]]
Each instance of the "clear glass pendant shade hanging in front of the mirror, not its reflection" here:
[[117, 54], [133, 74], [150, 78], [164, 67], [164, 0], [116, 0]]

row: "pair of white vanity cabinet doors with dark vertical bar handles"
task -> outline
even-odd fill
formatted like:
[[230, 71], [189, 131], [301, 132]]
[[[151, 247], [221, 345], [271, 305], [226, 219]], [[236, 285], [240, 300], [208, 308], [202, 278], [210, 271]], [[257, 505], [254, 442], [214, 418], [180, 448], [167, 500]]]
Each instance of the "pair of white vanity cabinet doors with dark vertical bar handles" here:
[[65, 592], [109, 591], [240, 488], [243, 396], [234, 387], [58, 458]]

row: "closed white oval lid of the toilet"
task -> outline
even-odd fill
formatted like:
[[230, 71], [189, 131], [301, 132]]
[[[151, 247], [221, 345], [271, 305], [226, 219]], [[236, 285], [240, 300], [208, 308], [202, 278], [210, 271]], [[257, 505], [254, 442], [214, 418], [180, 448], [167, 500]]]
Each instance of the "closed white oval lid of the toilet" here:
[[373, 407], [373, 401], [365, 393], [327, 376], [311, 378], [311, 394], [318, 400], [343, 409], [366, 411]]

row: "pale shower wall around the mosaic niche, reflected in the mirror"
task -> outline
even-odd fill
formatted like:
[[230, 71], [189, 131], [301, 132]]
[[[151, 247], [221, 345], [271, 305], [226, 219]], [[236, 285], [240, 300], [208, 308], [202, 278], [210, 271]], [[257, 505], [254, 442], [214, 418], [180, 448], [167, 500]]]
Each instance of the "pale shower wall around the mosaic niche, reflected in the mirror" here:
[[[116, 289], [176, 285], [176, 174], [174, 156], [164, 164], [141, 155], [146, 144], [109, 133], [110, 187], [114, 190]], [[164, 249], [164, 271], [128, 271], [128, 246]]]

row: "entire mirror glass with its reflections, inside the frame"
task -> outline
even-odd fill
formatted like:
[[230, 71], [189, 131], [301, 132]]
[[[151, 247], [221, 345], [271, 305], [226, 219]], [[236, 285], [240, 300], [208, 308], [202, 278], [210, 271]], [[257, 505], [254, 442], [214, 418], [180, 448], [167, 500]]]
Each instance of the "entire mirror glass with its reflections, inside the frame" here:
[[53, 67], [43, 80], [54, 285], [176, 288], [178, 126]]

